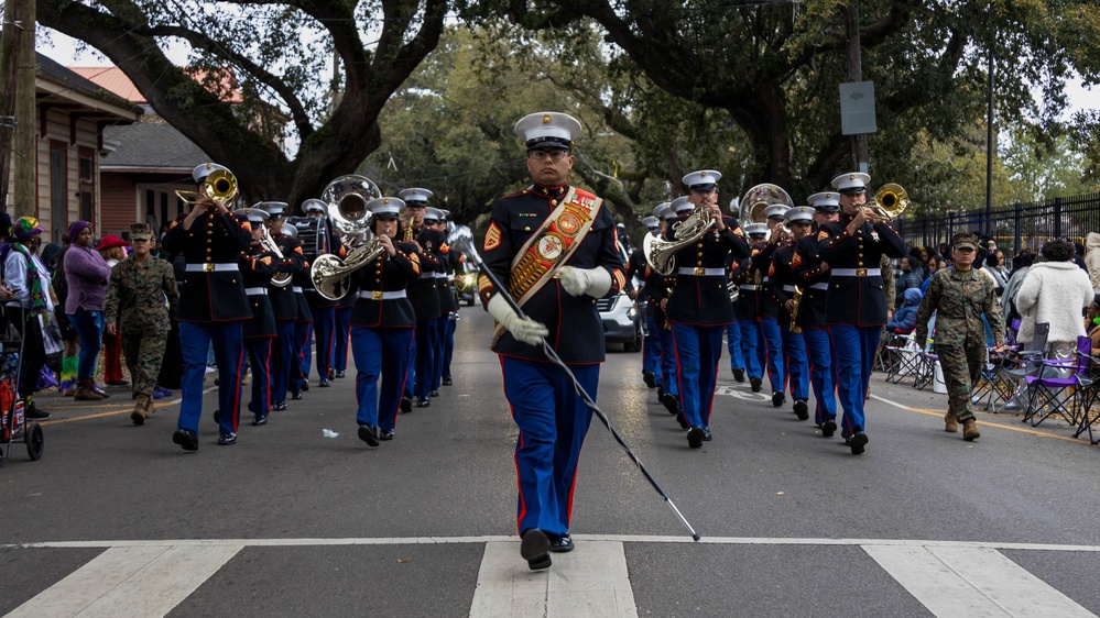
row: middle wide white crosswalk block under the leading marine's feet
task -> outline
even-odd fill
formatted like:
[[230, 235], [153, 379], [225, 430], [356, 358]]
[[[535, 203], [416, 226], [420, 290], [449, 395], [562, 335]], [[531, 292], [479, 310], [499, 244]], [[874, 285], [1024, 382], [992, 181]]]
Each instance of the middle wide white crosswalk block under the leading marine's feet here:
[[621, 541], [587, 541], [552, 556], [554, 566], [533, 572], [519, 541], [486, 543], [470, 617], [638, 616]]

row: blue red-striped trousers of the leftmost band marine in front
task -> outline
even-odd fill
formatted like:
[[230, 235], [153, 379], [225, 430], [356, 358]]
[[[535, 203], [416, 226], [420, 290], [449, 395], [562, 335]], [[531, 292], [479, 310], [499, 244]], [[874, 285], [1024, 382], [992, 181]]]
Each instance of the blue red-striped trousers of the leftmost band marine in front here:
[[203, 416], [203, 378], [206, 376], [206, 354], [214, 344], [218, 363], [218, 422], [221, 433], [237, 431], [241, 412], [241, 363], [244, 350], [241, 322], [179, 322], [179, 351], [184, 375], [179, 384], [179, 429], [198, 432]]

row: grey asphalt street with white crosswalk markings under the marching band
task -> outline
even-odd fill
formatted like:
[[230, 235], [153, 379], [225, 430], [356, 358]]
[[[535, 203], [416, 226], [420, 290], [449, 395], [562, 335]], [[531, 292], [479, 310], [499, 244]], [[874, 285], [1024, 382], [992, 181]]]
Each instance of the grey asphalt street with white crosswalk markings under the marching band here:
[[126, 388], [40, 396], [44, 456], [14, 444], [0, 467], [0, 615], [1100, 614], [1100, 451], [1068, 426], [981, 413], [965, 442], [943, 431], [946, 396], [876, 374], [853, 456], [734, 383], [725, 355], [703, 449], [645, 388], [640, 353], [610, 351], [598, 394], [703, 541], [593, 420], [577, 549], [531, 573], [491, 329], [462, 308], [455, 384], [377, 449], [356, 437], [352, 371], [314, 377], [265, 427], [246, 413], [231, 446], [208, 376], [196, 453], [171, 441], [178, 394], [143, 427]]

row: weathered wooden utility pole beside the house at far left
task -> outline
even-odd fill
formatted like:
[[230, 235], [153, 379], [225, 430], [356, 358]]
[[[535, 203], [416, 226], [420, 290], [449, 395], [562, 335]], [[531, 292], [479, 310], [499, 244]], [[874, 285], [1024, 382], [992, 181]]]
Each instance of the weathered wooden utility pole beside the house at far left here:
[[[34, 104], [34, 0], [9, 0], [15, 4], [15, 47], [18, 51], [15, 69], [15, 148], [12, 167], [15, 170], [12, 192], [15, 200], [9, 209], [12, 219], [35, 213], [36, 152], [35, 104]], [[6, 24], [7, 25], [7, 24]]]

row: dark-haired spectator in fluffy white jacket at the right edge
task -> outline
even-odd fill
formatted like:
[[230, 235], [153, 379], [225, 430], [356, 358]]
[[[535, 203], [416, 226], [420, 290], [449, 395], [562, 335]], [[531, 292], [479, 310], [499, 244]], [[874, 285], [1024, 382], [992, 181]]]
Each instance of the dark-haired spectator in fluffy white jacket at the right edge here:
[[1016, 295], [1016, 309], [1022, 316], [1016, 340], [1031, 343], [1035, 324], [1047, 322], [1047, 350], [1067, 357], [1077, 347], [1077, 338], [1086, 334], [1083, 309], [1092, 301], [1092, 283], [1074, 262], [1072, 243], [1048, 241], [1041, 253], [1046, 262], [1031, 267]]

